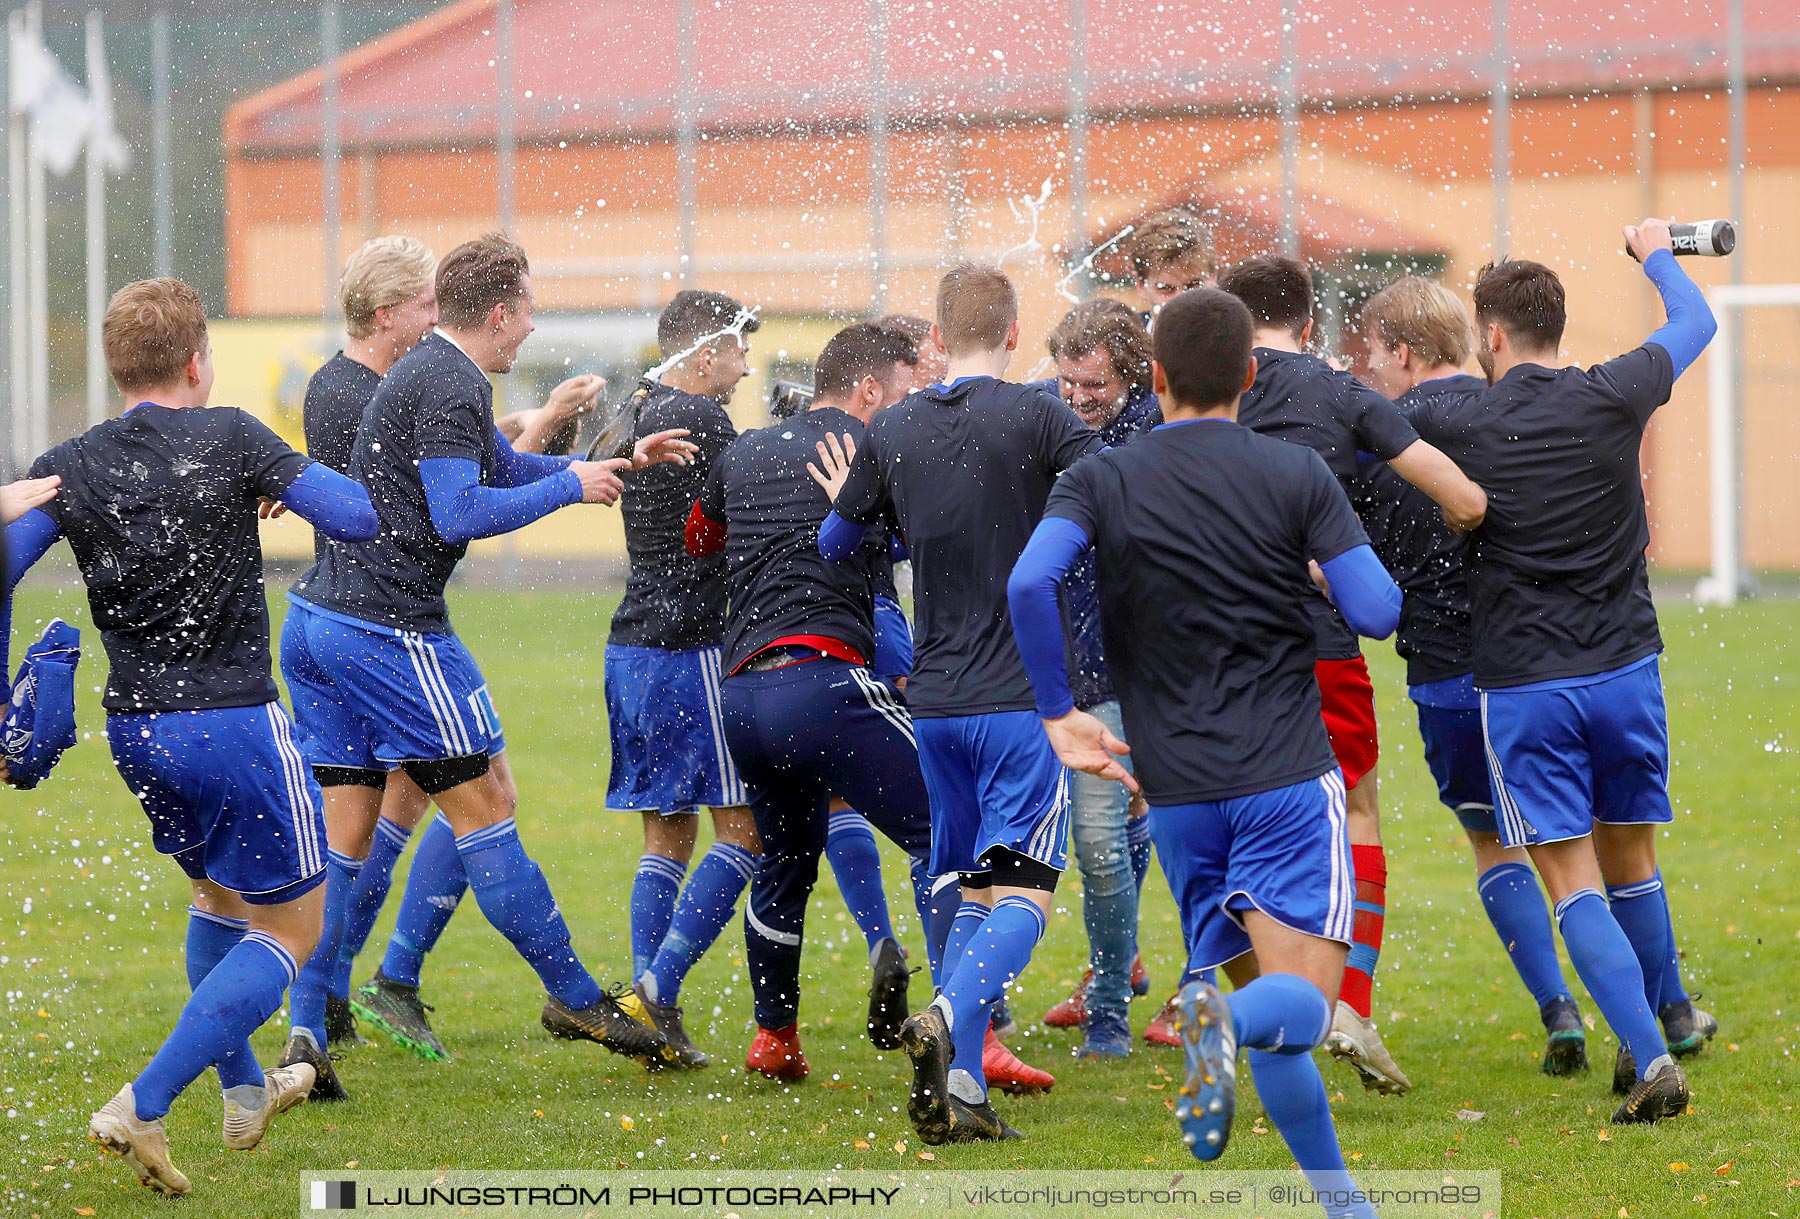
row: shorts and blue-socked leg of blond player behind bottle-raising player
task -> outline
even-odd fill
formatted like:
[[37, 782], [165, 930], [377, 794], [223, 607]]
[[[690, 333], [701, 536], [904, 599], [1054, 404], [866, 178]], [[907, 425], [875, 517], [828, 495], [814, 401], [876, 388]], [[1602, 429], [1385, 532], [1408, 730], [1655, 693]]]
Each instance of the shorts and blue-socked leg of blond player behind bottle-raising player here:
[[1588, 1066], [1580, 1008], [1557, 962], [1550, 907], [1523, 848], [1499, 841], [1494, 787], [1487, 774], [1487, 742], [1481, 738], [1481, 708], [1474, 688], [1471, 706], [1418, 704], [1418, 736], [1426, 765], [1438, 785], [1438, 799], [1456, 814], [1474, 853], [1476, 893], [1499, 936], [1507, 960], [1519, 972], [1537, 1003], [1544, 1025], [1543, 1071], [1573, 1075]]

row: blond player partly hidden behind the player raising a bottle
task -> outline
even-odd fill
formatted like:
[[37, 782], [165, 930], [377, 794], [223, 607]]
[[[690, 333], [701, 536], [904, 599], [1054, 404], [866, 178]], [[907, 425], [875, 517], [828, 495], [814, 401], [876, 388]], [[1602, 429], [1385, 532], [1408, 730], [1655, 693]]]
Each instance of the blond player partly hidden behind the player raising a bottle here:
[[[1469, 358], [1469, 317], [1449, 288], [1399, 279], [1363, 306], [1368, 378], [1411, 416], [1427, 403], [1451, 409], [1487, 382], [1462, 371]], [[1546, 1075], [1586, 1070], [1580, 1008], [1562, 980], [1544, 893], [1521, 846], [1499, 841], [1494, 789], [1487, 776], [1481, 706], [1474, 691], [1469, 634], [1467, 540], [1444, 524], [1426, 495], [1386, 465], [1366, 459], [1350, 502], [1375, 555], [1400, 583], [1397, 650], [1406, 659], [1406, 693], [1418, 708], [1418, 735], [1438, 798], [1456, 814], [1474, 852], [1476, 893], [1544, 1025]]]

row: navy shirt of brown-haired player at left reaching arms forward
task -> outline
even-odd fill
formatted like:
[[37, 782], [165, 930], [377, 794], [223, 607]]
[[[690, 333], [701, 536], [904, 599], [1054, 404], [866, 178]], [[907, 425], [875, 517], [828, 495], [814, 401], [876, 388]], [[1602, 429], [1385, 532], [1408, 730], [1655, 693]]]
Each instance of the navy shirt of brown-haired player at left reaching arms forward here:
[[400, 357], [369, 400], [349, 475], [369, 488], [382, 531], [362, 546], [329, 546], [293, 585], [313, 605], [396, 630], [450, 634], [445, 585], [468, 553], [432, 526], [419, 463], [457, 457], [493, 483], [493, 387], [443, 335]]

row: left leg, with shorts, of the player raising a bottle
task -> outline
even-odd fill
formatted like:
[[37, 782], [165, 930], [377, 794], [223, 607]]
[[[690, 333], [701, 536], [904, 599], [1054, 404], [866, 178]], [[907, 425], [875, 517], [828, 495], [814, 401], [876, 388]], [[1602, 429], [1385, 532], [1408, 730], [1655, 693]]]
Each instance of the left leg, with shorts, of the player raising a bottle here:
[[[1481, 727], [1501, 839], [1525, 846], [1553, 902], [1570, 962], [1600, 1014], [1633, 1055], [1634, 1086], [1620, 1122], [1672, 1116], [1687, 1107], [1687, 1082], [1667, 1055], [1645, 999], [1643, 969], [1602, 893], [1593, 850], [1593, 758], [1580, 691], [1481, 695]], [[1643, 1093], [1640, 1097], [1640, 1093]]]

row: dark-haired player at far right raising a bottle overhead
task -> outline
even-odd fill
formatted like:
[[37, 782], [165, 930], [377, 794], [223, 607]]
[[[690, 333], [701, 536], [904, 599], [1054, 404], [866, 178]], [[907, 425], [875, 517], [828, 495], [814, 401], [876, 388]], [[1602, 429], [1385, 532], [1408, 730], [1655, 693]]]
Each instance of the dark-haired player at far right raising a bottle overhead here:
[[1674, 933], [1656, 826], [1672, 821], [1669, 724], [1638, 452], [1715, 322], [1667, 221], [1629, 225], [1625, 241], [1669, 317], [1640, 348], [1559, 367], [1561, 279], [1503, 261], [1474, 288], [1489, 389], [1413, 418], [1492, 488], [1467, 564], [1501, 841], [1530, 852], [1575, 972], [1618, 1035], [1613, 1088], [1625, 1100], [1613, 1120], [1656, 1122], [1687, 1111], [1670, 1055], [1703, 1048], [1717, 1021], [1679, 978], [1665, 987]]

